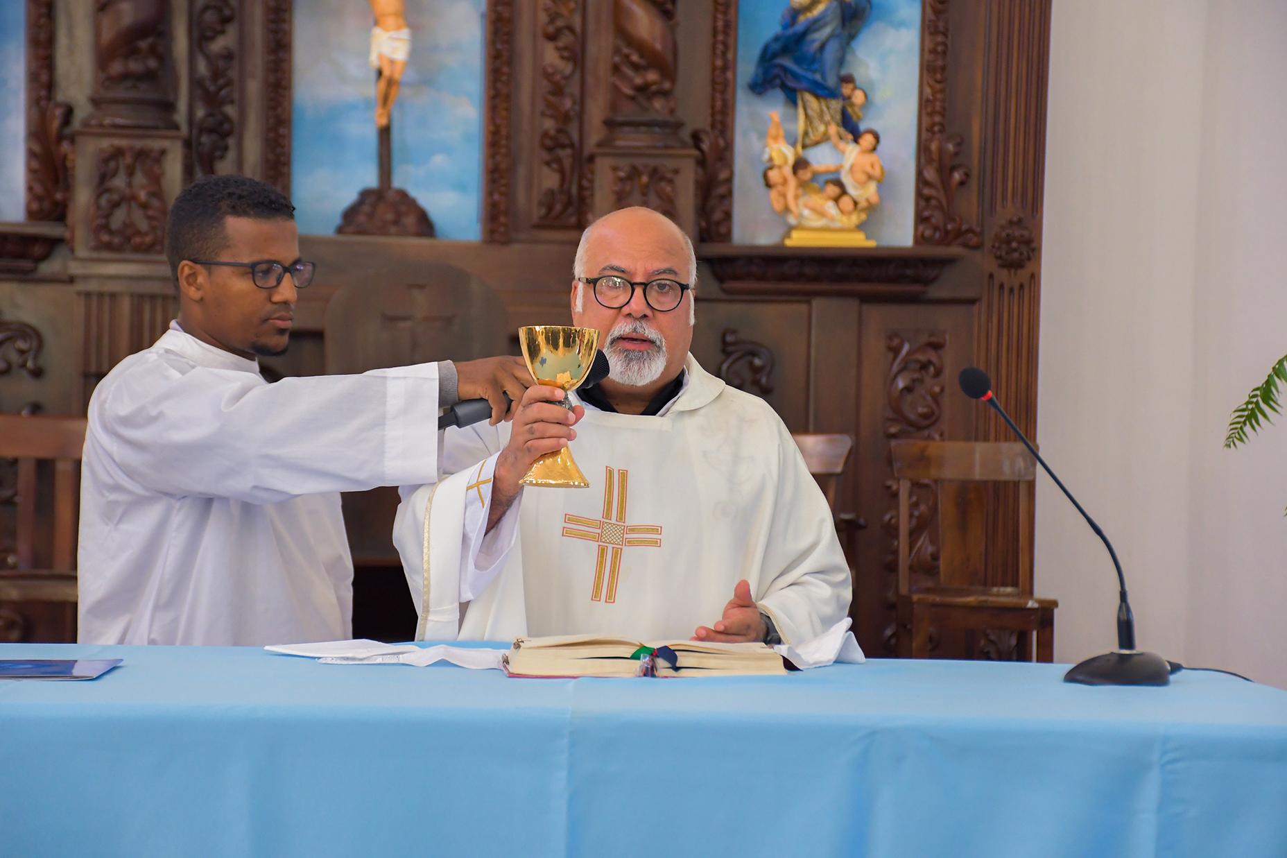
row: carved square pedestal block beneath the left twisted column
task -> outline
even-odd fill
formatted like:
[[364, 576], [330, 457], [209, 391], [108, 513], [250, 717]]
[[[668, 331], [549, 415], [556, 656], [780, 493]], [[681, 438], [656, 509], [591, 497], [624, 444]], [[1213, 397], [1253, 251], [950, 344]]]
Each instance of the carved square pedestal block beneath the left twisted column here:
[[108, 146], [94, 164], [90, 247], [116, 253], [160, 254], [167, 214], [161, 178], [165, 149]]

